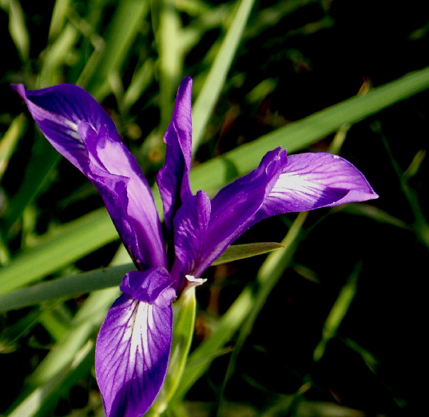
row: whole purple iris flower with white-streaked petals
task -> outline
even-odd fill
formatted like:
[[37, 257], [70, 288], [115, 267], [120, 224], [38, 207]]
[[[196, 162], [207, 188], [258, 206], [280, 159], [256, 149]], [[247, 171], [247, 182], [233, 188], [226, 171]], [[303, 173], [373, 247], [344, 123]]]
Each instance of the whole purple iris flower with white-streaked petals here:
[[246, 229], [266, 217], [378, 197], [351, 163], [330, 153], [266, 153], [259, 167], [210, 200], [192, 194], [191, 90], [185, 78], [164, 136], [165, 165], [157, 176], [165, 237], [146, 178], [112, 119], [82, 88], [13, 88], [25, 99], [48, 141], [102, 195], [136, 264], [121, 282], [99, 330], [95, 372], [107, 416], [146, 413], [167, 372], [175, 298]]

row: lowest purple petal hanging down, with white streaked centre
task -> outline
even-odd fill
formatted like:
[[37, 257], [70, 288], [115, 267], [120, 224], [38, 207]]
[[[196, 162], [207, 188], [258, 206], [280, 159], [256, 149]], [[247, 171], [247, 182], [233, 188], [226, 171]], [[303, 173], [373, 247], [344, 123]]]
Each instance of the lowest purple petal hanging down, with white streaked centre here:
[[[143, 282], [147, 279], [143, 277]], [[95, 373], [107, 417], [142, 416], [156, 399], [170, 356], [174, 296], [175, 291], [166, 288], [147, 303], [123, 294], [109, 309], [95, 351]]]

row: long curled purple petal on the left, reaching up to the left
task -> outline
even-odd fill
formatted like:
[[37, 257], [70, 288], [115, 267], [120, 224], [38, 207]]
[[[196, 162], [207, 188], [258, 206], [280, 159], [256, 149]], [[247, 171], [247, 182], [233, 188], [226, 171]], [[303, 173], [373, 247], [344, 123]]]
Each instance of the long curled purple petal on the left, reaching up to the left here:
[[48, 141], [97, 187], [136, 266], [165, 265], [161, 222], [151, 190], [104, 109], [75, 85], [43, 90], [13, 87]]

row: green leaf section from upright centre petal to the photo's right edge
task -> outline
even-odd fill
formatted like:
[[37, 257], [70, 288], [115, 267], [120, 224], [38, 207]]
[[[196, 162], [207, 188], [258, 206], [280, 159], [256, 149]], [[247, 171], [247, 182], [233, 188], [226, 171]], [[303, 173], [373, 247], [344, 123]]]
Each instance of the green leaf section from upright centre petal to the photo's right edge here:
[[246, 143], [233, 151], [224, 153], [191, 171], [192, 188], [216, 191], [224, 183], [254, 169], [261, 157], [278, 146], [288, 153], [300, 151], [322, 137], [334, 133], [344, 124], [353, 124], [393, 103], [413, 96], [429, 88], [429, 67], [411, 72], [398, 80], [376, 87], [364, 96], [352, 97], [320, 112], [293, 121]]

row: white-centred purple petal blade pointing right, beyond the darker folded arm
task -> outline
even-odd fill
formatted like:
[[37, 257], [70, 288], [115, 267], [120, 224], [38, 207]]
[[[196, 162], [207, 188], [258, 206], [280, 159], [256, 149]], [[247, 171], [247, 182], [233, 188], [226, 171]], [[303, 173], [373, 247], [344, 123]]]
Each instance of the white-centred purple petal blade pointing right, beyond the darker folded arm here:
[[377, 198], [364, 175], [331, 153], [301, 153], [288, 162], [258, 213], [258, 220]]

